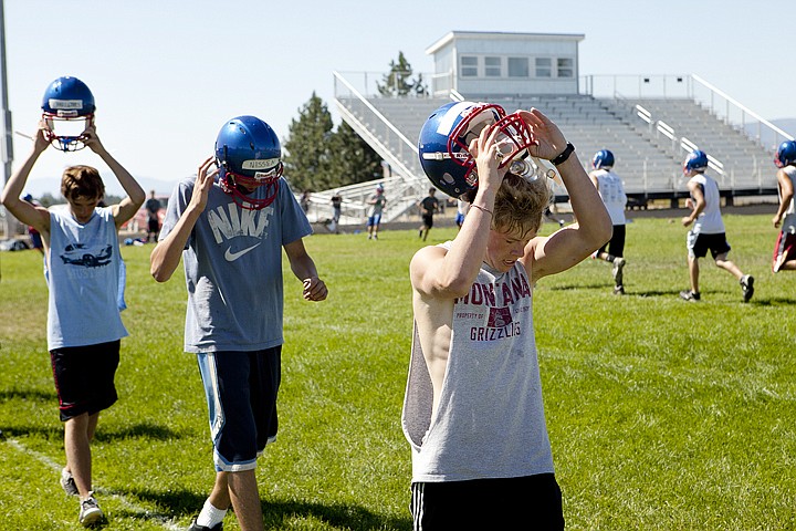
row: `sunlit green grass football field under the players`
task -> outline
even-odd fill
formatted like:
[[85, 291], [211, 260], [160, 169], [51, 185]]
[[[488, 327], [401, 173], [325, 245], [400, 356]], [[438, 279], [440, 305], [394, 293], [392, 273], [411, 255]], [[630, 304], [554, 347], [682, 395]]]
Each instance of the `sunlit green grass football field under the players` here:
[[[796, 529], [796, 274], [769, 270], [771, 215], [725, 216], [737, 282], [702, 261], [688, 303], [685, 229], [628, 225], [626, 296], [586, 260], [536, 287], [547, 424], [572, 530]], [[434, 228], [434, 242], [454, 236]], [[543, 228], [552, 230], [551, 225]], [[413, 230], [306, 240], [329, 298], [285, 290], [280, 436], [259, 464], [266, 529], [409, 530], [410, 455], [400, 430], [411, 331]], [[429, 241], [431, 242], [431, 241]], [[186, 290], [125, 247], [130, 336], [119, 402], [93, 446], [108, 530], [187, 527], [212, 485], [196, 360], [182, 352]], [[4, 252], [0, 282], [0, 529], [67, 530], [62, 425], [46, 352], [46, 287], [34, 251]], [[239, 529], [229, 514], [227, 530]]]

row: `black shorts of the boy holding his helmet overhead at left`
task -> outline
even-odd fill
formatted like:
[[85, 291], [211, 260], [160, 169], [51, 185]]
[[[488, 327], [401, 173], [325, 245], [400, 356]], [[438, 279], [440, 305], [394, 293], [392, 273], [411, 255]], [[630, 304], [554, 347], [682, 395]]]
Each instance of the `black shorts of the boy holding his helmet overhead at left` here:
[[94, 415], [118, 399], [114, 377], [119, 362], [119, 340], [50, 351], [59, 395], [61, 421]]

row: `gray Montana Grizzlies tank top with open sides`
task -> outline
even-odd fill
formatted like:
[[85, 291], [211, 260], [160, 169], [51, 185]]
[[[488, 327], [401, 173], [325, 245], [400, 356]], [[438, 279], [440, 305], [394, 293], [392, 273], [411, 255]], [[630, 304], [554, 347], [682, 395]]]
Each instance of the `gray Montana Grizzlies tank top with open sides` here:
[[532, 288], [522, 264], [486, 264], [453, 306], [439, 408], [417, 333], [401, 425], [412, 481], [462, 481], [553, 472], [533, 327]]

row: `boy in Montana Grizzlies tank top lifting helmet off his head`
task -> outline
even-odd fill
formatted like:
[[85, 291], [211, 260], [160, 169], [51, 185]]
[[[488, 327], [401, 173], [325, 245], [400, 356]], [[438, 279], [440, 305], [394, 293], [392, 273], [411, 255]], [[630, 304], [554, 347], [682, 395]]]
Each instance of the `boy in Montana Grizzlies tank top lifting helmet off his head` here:
[[[610, 218], [574, 147], [537, 110], [447, 104], [419, 148], [434, 186], [471, 207], [455, 239], [420, 249], [410, 264], [415, 333], [401, 424], [413, 529], [564, 529], [533, 287], [608, 241]], [[538, 163], [534, 175], [512, 170], [523, 156]], [[549, 237], [536, 236], [551, 198], [538, 158], [561, 173], [578, 220]]]

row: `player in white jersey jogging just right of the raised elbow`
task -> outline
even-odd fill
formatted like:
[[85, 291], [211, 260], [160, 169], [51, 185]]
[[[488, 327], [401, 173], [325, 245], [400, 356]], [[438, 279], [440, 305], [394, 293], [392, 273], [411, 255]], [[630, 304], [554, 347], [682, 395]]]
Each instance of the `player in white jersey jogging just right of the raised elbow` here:
[[611, 274], [614, 275], [614, 294], [624, 295], [625, 284], [622, 270], [625, 269], [625, 207], [627, 206], [627, 195], [625, 195], [625, 186], [621, 179], [612, 170], [614, 154], [608, 149], [600, 149], [595, 153], [591, 158], [591, 171], [589, 178], [599, 191], [600, 199], [608, 210], [614, 226], [614, 233], [608, 243], [600, 247], [594, 254], [594, 258], [605, 260], [611, 263]]

